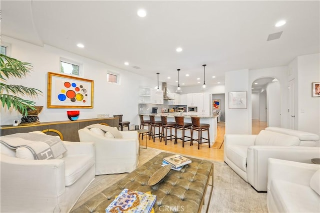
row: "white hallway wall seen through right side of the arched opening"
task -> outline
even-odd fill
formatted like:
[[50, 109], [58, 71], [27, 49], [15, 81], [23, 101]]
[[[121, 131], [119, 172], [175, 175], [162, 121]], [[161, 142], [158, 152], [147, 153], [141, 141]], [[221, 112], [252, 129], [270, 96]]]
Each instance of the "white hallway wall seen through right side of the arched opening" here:
[[280, 127], [280, 91], [279, 82], [270, 82], [266, 86], [267, 126]]

